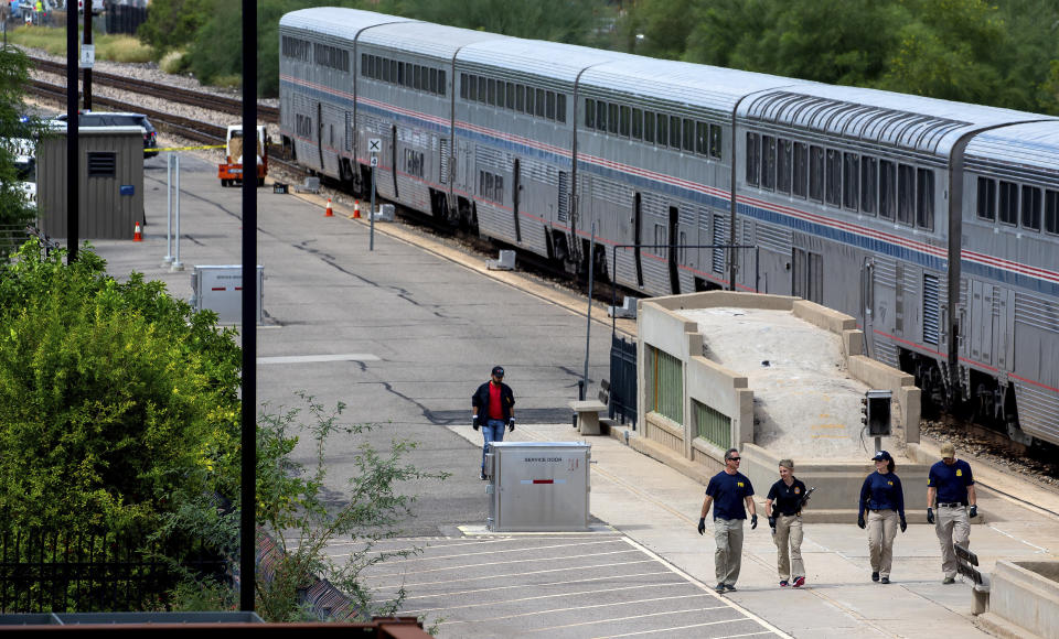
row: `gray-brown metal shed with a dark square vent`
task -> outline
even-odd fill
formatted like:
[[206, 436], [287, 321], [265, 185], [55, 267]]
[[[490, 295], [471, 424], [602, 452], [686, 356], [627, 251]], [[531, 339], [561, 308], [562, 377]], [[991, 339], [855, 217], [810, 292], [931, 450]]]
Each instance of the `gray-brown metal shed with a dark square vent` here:
[[[132, 239], [143, 223], [143, 129], [78, 130], [78, 239]], [[55, 238], [66, 229], [66, 129], [36, 145], [38, 226]]]

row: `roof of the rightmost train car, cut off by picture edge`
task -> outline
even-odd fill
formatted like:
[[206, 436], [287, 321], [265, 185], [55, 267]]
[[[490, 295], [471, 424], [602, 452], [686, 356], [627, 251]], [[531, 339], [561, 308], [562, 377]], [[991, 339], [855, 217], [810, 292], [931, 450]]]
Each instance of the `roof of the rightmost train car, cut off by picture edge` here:
[[1059, 176], [1059, 120], [984, 131], [971, 140], [965, 154], [969, 161], [1002, 162]]

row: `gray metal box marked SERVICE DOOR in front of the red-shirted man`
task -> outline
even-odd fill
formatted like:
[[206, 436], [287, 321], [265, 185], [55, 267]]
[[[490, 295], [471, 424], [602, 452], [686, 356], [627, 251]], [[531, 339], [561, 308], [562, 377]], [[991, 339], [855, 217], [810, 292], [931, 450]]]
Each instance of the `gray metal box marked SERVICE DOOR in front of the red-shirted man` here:
[[490, 530], [588, 530], [591, 444], [496, 442], [490, 448]]

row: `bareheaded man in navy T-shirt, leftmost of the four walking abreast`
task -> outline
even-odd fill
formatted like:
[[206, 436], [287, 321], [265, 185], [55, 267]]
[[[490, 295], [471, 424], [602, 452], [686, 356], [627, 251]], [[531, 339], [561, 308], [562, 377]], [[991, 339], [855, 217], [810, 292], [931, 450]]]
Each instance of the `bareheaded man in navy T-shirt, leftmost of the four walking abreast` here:
[[758, 527], [758, 515], [753, 503], [753, 486], [746, 475], [739, 473], [741, 462], [739, 451], [730, 448], [725, 453], [725, 469], [714, 475], [706, 486], [706, 499], [698, 520], [698, 534], [706, 533], [706, 516], [714, 507], [714, 571], [717, 575], [718, 593], [735, 592], [736, 580], [742, 565], [742, 522], [750, 511], [750, 530]]

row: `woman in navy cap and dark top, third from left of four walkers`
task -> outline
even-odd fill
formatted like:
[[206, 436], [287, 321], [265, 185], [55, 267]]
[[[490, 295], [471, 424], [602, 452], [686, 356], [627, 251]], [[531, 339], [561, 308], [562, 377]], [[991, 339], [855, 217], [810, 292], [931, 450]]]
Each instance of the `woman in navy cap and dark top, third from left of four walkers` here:
[[900, 477], [894, 473], [894, 457], [889, 453], [879, 451], [871, 461], [875, 462], [875, 473], [868, 475], [860, 487], [857, 526], [860, 530], [865, 527], [868, 529], [871, 581], [888, 584], [897, 527], [901, 527], [901, 532], [908, 528], [905, 521], [905, 489], [901, 488]]

